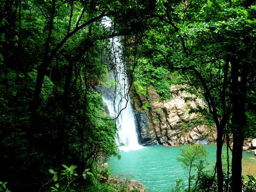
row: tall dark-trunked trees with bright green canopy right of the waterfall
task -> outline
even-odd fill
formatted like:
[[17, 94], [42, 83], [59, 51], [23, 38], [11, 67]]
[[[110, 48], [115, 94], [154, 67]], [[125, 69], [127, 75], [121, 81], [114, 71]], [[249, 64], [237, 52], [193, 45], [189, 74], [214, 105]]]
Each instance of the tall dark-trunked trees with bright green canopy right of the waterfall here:
[[254, 103], [254, 86], [249, 82], [256, 75], [252, 64], [255, 5], [250, 1], [251, 6], [247, 6], [248, 2], [245, 6], [240, 1], [158, 1], [158, 9], [148, 12], [151, 28], [141, 39], [140, 51], [146, 60], [170, 71], [182, 70], [188, 77], [185, 90], [201, 95], [207, 102], [209, 110], [203, 113], [210, 114], [218, 130], [219, 191], [223, 190], [221, 157], [225, 138], [233, 134], [233, 190], [241, 191], [243, 139], [248, 132], [255, 132], [247, 123], [253, 116], [247, 108]]

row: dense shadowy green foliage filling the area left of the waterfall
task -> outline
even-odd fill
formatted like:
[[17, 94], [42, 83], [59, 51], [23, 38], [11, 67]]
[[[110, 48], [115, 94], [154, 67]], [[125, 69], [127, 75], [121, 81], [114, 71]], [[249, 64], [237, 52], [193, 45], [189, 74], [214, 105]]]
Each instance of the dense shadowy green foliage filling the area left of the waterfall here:
[[[1, 171], [8, 172], [1, 179], [11, 191], [39, 191], [49, 176], [46, 167], [56, 167], [52, 182], [64, 182], [64, 176], [71, 181], [79, 173], [78, 180], [86, 177], [80, 188], [93, 185], [96, 162], [120, 157], [115, 123], [104, 120], [110, 117], [94, 92], [112, 54], [111, 30], [101, 24], [109, 3], [1, 3], [0, 154], [6, 165]], [[78, 167], [61, 172], [63, 163]], [[61, 191], [61, 182], [52, 189]]]

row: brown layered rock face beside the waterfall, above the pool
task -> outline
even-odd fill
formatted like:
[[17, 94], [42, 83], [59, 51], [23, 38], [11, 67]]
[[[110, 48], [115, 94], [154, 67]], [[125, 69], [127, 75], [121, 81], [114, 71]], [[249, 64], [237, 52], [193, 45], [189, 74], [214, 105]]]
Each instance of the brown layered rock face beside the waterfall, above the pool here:
[[[178, 87], [173, 85], [171, 91], [176, 90]], [[189, 113], [191, 109], [206, 110], [203, 99], [179, 91], [177, 95], [173, 95], [171, 101], [161, 102], [153, 85], [147, 87], [146, 96], [138, 95], [138, 100], [132, 96], [140, 143], [178, 145], [207, 144], [216, 141], [215, 126], [207, 125], [207, 120], [202, 114]], [[185, 102], [186, 97], [192, 97], [194, 101]]]

